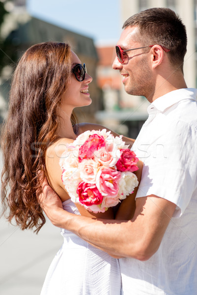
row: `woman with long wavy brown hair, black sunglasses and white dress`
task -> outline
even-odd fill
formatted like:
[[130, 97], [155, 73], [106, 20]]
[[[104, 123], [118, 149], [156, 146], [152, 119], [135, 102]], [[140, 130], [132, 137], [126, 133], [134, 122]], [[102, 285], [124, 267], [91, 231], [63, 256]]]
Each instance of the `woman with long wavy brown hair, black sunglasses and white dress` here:
[[[60, 156], [67, 143], [94, 124], [77, 124], [75, 107], [91, 104], [92, 77], [68, 44], [46, 42], [32, 46], [20, 59], [10, 90], [9, 113], [2, 132], [4, 167], [1, 199], [8, 220], [38, 232], [45, 218], [36, 198], [43, 172], [66, 210], [75, 214], [114, 218], [112, 208], [93, 214], [70, 201], [61, 179]], [[6, 197], [7, 187], [10, 192]], [[129, 198], [128, 198], [129, 200]], [[130, 198], [133, 204], [134, 198]], [[129, 202], [129, 201], [127, 201]], [[119, 210], [119, 217], [125, 208]], [[118, 216], [117, 214], [117, 216]], [[129, 212], [128, 214], [131, 214]], [[42, 295], [120, 295], [118, 260], [62, 230], [64, 244], [52, 262]]]

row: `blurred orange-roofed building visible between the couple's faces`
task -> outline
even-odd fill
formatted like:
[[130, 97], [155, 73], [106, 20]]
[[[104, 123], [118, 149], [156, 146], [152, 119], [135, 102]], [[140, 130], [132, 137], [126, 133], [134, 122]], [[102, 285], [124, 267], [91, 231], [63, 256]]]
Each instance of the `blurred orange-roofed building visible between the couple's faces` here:
[[[98, 86], [102, 89], [103, 110], [98, 110], [96, 119], [104, 126], [136, 138], [147, 118], [145, 98], [125, 95], [122, 76], [112, 69], [116, 56], [115, 46], [97, 47], [99, 63], [97, 67]], [[138, 107], [141, 105], [141, 110]]]

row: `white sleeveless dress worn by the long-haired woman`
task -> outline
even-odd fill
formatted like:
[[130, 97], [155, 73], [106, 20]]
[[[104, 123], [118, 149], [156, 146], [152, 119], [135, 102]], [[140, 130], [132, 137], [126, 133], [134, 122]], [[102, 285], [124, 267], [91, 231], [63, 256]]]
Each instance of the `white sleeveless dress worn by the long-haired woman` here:
[[[69, 199], [66, 211], [80, 215]], [[61, 229], [64, 243], [47, 272], [40, 295], [121, 295], [118, 259]]]

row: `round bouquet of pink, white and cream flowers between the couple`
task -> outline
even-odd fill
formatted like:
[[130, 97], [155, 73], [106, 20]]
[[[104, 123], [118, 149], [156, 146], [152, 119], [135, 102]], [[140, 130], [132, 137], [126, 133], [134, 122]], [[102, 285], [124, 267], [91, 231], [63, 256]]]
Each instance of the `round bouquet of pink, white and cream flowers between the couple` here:
[[116, 206], [138, 185], [138, 158], [122, 136], [86, 131], [61, 156], [62, 181], [74, 203], [95, 213]]

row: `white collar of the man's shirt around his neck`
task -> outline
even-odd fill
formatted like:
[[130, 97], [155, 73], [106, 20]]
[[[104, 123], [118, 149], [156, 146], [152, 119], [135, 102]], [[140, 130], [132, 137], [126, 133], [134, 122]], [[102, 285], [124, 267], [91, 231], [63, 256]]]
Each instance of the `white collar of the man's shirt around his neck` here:
[[175, 103], [184, 100], [191, 99], [197, 101], [197, 89], [195, 88], [183, 88], [170, 91], [161, 97], [154, 100], [150, 106], [148, 106], [148, 113], [153, 113], [154, 110], [164, 112], [165, 109], [171, 107]]

